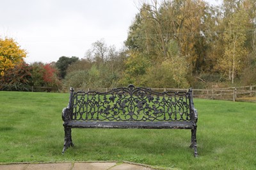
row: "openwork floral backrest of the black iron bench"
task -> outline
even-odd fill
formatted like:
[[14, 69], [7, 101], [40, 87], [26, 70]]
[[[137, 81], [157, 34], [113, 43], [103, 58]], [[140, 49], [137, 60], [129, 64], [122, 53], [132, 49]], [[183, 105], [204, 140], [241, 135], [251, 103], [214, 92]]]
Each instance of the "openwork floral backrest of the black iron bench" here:
[[191, 89], [157, 92], [148, 88], [115, 88], [108, 92], [70, 89], [72, 120], [191, 121]]

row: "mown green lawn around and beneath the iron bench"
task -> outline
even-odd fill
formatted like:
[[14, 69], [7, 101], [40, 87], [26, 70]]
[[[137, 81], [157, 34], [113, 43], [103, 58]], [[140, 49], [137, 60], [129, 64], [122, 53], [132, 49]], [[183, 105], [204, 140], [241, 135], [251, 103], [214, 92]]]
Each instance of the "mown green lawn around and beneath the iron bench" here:
[[196, 99], [198, 153], [190, 130], [74, 129], [61, 155], [68, 94], [0, 91], [0, 162], [117, 160], [166, 169], [255, 169], [256, 104]]

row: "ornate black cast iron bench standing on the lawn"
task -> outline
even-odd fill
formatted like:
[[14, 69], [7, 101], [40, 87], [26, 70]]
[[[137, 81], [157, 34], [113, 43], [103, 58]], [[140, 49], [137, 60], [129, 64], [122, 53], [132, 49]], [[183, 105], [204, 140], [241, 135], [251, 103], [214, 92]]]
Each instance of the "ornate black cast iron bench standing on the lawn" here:
[[62, 111], [65, 131], [64, 153], [74, 146], [72, 128], [175, 128], [191, 129], [196, 150], [197, 112], [192, 90], [157, 92], [149, 88], [115, 88], [108, 92], [77, 91], [70, 88], [68, 106]]

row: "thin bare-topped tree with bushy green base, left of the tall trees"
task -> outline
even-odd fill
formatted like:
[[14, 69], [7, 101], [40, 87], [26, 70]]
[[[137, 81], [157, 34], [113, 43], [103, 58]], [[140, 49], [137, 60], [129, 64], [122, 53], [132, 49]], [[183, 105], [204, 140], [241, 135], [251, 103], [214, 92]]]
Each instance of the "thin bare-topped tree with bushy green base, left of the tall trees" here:
[[[81, 61], [86, 64], [82, 70], [88, 71], [90, 77], [86, 86], [107, 88], [116, 86], [118, 77], [124, 70], [124, 58], [124, 52], [117, 52], [114, 45], [108, 46], [103, 39], [92, 43], [92, 49], [87, 50], [85, 59]], [[74, 70], [74, 66], [71, 65], [71, 68]], [[81, 70], [79, 67], [77, 69]]]

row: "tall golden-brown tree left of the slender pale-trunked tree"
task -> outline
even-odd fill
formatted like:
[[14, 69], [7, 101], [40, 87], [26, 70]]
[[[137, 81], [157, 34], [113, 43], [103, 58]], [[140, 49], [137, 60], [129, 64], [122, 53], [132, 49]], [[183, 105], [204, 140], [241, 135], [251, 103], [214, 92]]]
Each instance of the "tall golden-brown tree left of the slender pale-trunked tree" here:
[[179, 45], [180, 54], [187, 58], [186, 60], [193, 71], [200, 68], [202, 65], [200, 62], [205, 56], [202, 46], [205, 45], [206, 9], [207, 6], [204, 1], [192, 0], [173, 1], [172, 8], [168, 9], [174, 13], [174, 35]]

